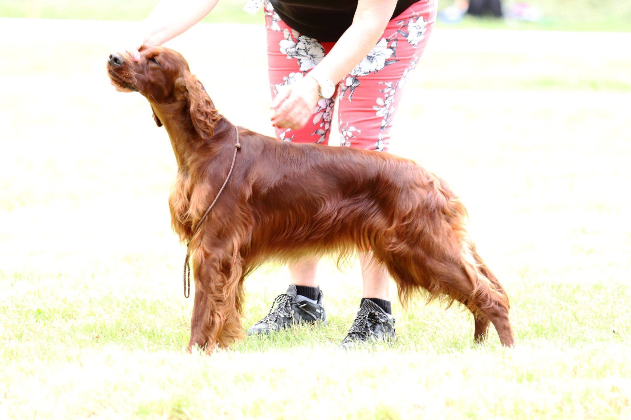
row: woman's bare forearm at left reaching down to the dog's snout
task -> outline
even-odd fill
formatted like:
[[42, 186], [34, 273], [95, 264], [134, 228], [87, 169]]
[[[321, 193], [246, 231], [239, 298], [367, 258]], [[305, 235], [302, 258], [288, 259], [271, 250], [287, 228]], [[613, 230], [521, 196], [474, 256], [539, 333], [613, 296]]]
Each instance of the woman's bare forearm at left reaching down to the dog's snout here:
[[142, 45], [162, 45], [177, 37], [210, 13], [219, 0], [162, 0], [140, 25], [127, 52], [138, 61]]

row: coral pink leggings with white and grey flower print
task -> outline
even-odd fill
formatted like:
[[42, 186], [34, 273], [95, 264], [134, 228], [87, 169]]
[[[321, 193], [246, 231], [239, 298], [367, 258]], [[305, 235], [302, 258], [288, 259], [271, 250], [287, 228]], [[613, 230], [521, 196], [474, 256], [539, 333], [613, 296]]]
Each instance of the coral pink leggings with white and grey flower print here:
[[[279, 140], [328, 143], [333, 104], [339, 97], [341, 145], [387, 150], [390, 129], [403, 88], [425, 50], [436, 17], [434, 0], [421, 0], [393, 18], [369, 54], [339, 82], [331, 99], [320, 99], [313, 118], [300, 130], [276, 128]], [[279, 86], [304, 77], [334, 42], [300, 35], [265, 4], [268, 34], [269, 84], [272, 96]]]

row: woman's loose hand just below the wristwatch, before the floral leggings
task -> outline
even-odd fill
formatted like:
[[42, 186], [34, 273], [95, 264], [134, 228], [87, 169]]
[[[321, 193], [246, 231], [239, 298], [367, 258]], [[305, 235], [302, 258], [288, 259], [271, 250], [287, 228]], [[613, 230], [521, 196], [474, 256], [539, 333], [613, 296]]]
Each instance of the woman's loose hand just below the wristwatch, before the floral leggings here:
[[285, 86], [274, 98], [272, 124], [278, 128], [304, 127], [313, 115], [317, 104], [320, 86], [313, 77], [302, 79]]

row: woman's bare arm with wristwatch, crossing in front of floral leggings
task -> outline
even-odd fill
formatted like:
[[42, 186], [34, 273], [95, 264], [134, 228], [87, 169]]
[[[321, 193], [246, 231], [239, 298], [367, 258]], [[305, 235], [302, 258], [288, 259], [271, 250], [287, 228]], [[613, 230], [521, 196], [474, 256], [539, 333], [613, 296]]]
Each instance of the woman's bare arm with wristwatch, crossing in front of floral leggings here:
[[304, 127], [319, 98], [315, 79], [338, 83], [346, 76], [379, 41], [396, 3], [396, 0], [359, 0], [353, 23], [309, 73], [313, 77], [303, 77], [276, 95], [272, 123], [281, 128]]

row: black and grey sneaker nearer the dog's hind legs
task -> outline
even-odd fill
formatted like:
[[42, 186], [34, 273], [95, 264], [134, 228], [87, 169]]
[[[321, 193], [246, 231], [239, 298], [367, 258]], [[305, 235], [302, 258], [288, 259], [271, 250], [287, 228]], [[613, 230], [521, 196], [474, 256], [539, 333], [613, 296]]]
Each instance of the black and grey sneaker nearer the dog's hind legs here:
[[348, 349], [362, 343], [392, 341], [395, 337], [392, 315], [387, 314], [375, 302], [366, 299], [340, 347]]

